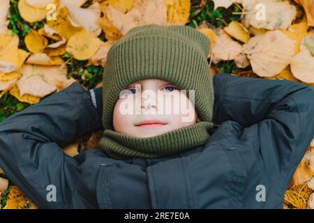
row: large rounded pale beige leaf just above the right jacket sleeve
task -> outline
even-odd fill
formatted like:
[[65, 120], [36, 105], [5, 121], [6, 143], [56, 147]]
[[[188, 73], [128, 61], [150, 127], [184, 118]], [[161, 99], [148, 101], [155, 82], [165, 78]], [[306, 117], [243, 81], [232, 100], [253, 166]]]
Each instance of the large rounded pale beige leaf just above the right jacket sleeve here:
[[260, 77], [272, 77], [291, 61], [295, 40], [281, 31], [268, 31], [251, 38], [244, 47], [253, 71]]

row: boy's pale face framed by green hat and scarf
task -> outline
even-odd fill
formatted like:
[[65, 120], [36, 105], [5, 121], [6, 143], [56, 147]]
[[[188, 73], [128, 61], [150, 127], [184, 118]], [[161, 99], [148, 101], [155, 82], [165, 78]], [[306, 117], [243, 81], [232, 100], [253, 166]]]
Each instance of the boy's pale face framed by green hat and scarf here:
[[186, 94], [160, 79], [130, 84], [114, 105], [114, 130], [132, 137], [153, 137], [197, 121], [193, 102]]

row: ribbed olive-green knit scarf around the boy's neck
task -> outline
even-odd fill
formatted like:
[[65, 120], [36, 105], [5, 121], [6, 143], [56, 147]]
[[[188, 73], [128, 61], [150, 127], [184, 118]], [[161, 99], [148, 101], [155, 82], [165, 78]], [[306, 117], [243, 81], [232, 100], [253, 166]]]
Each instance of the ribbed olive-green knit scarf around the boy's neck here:
[[210, 137], [209, 130], [213, 127], [214, 123], [200, 121], [147, 138], [130, 137], [113, 130], [104, 130], [100, 144], [108, 156], [119, 160], [130, 157], [163, 157], [204, 145]]

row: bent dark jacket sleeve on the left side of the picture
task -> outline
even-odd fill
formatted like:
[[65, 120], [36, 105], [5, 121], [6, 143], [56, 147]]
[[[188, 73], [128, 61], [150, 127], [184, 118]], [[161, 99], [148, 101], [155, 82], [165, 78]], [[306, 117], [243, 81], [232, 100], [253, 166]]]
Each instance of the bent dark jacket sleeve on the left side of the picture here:
[[[61, 147], [100, 126], [88, 91], [75, 82], [0, 123], [0, 167], [40, 208], [71, 208], [79, 164]], [[47, 201], [48, 185], [57, 201]]]

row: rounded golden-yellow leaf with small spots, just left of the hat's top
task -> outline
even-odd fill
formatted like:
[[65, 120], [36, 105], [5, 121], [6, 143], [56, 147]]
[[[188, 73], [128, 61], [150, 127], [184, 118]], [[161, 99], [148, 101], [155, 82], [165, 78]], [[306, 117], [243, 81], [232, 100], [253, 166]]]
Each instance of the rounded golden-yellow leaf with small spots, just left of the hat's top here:
[[77, 60], [87, 60], [94, 56], [101, 45], [99, 38], [88, 31], [82, 30], [68, 40], [66, 51]]

